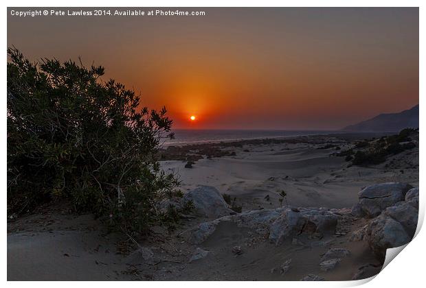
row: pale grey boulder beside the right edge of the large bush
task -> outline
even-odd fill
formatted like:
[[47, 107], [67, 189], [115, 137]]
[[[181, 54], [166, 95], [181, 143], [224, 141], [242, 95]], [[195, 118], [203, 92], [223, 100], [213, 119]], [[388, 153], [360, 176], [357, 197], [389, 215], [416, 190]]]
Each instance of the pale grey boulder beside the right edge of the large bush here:
[[192, 201], [194, 214], [201, 217], [217, 218], [232, 213], [228, 204], [216, 188], [199, 186], [183, 196], [183, 203]]

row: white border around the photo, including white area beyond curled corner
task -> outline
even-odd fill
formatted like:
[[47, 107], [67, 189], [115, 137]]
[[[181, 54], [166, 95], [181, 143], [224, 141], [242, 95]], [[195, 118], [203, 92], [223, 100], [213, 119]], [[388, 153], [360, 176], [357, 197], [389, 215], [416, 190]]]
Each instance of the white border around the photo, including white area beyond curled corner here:
[[[104, 0], [104, 1], [82, 1], [82, 0], [75, 0], [75, 1], [53, 1], [53, 0], [44, 0], [44, 1], [9, 1], [8, 3], [3, 2], [3, 13], [1, 14], [1, 42], [3, 49], [7, 47], [7, 40], [6, 40], [6, 25], [7, 25], [7, 5], [11, 7], [30, 7], [30, 6], [38, 6], [38, 7], [66, 7], [66, 6], [72, 6], [72, 7], [114, 7], [114, 6], [120, 6], [120, 7], [126, 7], [126, 6], [134, 6], [134, 7], [238, 7], [238, 6], [248, 6], [248, 7], [261, 7], [261, 6], [270, 6], [270, 7], [420, 7], [419, 13], [420, 13], [420, 79], [425, 79], [424, 76], [424, 68], [425, 68], [425, 58], [422, 54], [422, 48], [425, 48], [425, 21], [423, 20], [425, 17], [425, 12], [423, 12], [423, 8], [425, 8], [425, 1], [373, 1], [373, 0], [359, 0], [359, 1], [337, 1], [337, 0], [324, 0], [324, 1], [277, 1], [277, 0], [263, 0], [263, 1], [229, 1], [229, 0], [208, 0], [203, 1], [203, 3], [199, 3], [199, 1], [188, 1], [188, 0], [181, 0], [181, 1], [175, 1], [175, 0], [159, 0], [159, 1], [128, 1], [128, 0], [121, 0], [121, 1], [111, 1], [111, 0]], [[3, 51], [5, 53], [5, 51]], [[6, 54], [6, 53], [5, 53]], [[4, 55], [5, 55], [4, 54]], [[1, 86], [3, 95], [5, 95], [5, 87], [6, 87], [6, 65], [3, 64], [3, 69], [1, 69]], [[419, 94], [419, 101], [421, 102], [420, 95], [424, 94], [424, 85], [422, 82], [420, 82], [420, 94]], [[3, 101], [1, 101], [1, 109], [3, 110], [3, 115], [6, 114], [6, 97], [3, 97]], [[423, 110], [423, 104], [421, 106], [421, 111]], [[420, 114], [420, 125], [423, 127], [423, 123], [425, 123], [425, 117], [423, 117], [422, 113]], [[1, 134], [4, 135], [3, 139], [1, 139], [1, 145], [3, 147], [3, 154], [1, 154], [3, 165], [1, 167], [1, 171], [3, 172], [3, 178], [1, 178], [1, 187], [6, 187], [6, 117], [2, 118], [1, 121]], [[421, 153], [420, 153], [420, 162], [423, 163], [424, 160], [424, 154], [422, 153], [425, 149], [425, 143], [424, 143], [424, 137], [421, 133], [420, 135], [420, 146], [421, 146]], [[425, 172], [423, 169], [420, 169], [420, 186], [421, 191], [423, 189], [423, 179], [425, 176]], [[420, 210], [420, 217], [421, 222], [423, 222], [424, 213], [425, 213], [425, 200], [423, 199], [424, 193], [421, 193], [421, 210]], [[6, 215], [6, 193], [3, 191], [3, 217]], [[6, 221], [3, 218], [2, 222], [3, 231], [6, 230]], [[424, 282], [423, 280], [423, 274], [424, 272], [424, 258], [425, 258], [425, 247], [423, 247], [423, 243], [426, 243], [425, 241], [426, 236], [424, 231], [420, 231], [414, 241], [407, 245], [407, 247], [396, 257], [396, 260], [392, 261], [383, 271], [374, 278], [374, 280], [371, 280], [368, 282], [365, 287], [419, 287], [421, 283]], [[1, 245], [3, 247], [3, 258], [1, 261], [1, 275], [3, 277], [3, 280], [5, 281], [7, 279], [7, 245], [6, 245], [6, 235], [4, 234], [1, 238]], [[285, 286], [297, 286], [297, 287], [347, 287], [347, 286], [354, 286], [359, 285], [361, 283], [365, 283], [366, 281], [348, 281], [348, 282], [324, 282], [324, 283], [318, 283], [318, 282], [312, 282], [312, 283], [305, 283], [305, 282], [262, 282], [260, 285], [267, 285], [268, 287], [280, 287], [282, 288], [283, 285]], [[58, 283], [54, 282], [48, 282], [48, 283], [41, 283], [41, 282], [32, 282], [32, 283], [7, 283], [10, 286], [14, 287], [21, 287], [22, 285], [31, 285], [32, 287], [54, 287], [58, 285]], [[78, 283], [78, 285], [83, 286], [91, 286], [95, 283], [90, 282], [83, 282]], [[108, 283], [97, 283], [95, 285], [104, 285], [105, 287], [115, 287], [118, 283], [114, 282], [108, 282]], [[211, 282], [205, 282], [205, 283], [197, 283], [197, 282], [175, 282], [175, 283], [164, 283], [164, 282], [152, 282], [152, 283], [139, 283], [139, 282], [129, 282], [129, 283], [121, 283], [118, 285], [128, 285], [131, 287], [139, 287], [140, 285], [149, 285], [150, 287], [163, 287], [163, 285], [172, 285], [173, 288], [187, 288], [187, 287], [199, 287], [199, 285], [203, 285], [203, 287], [210, 288], [214, 287], [216, 283]], [[74, 287], [76, 283], [60, 283], [63, 287]], [[221, 285], [225, 285], [226, 287], [236, 287], [239, 285], [244, 285], [247, 288], [257, 288], [258, 283], [254, 282], [245, 282], [245, 283], [221, 283]]]

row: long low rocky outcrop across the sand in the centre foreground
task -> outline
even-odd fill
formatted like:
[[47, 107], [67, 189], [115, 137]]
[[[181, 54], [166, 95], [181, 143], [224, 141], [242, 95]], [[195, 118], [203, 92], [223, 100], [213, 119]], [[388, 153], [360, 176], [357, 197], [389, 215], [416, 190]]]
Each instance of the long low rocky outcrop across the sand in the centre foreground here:
[[318, 208], [278, 208], [271, 210], [249, 211], [238, 215], [221, 217], [200, 224], [192, 231], [191, 241], [201, 243], [216, 230], [223, 221], [232, 221], [238, 227], [250, 228], [277, 245], [293, 236], [307, 235], [319, 237], [333, 232], [339, 213]]

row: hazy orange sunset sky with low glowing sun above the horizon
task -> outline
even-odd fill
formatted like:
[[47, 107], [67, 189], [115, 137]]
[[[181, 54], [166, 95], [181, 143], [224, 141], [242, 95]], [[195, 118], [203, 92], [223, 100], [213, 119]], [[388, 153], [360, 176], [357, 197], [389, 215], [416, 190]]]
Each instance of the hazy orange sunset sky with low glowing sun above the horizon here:
[[418, 8], [179, 9], [206, 15], [8, 8], [8, 46], [102, 65], [174, 128], [333, 130], [418, 104]]

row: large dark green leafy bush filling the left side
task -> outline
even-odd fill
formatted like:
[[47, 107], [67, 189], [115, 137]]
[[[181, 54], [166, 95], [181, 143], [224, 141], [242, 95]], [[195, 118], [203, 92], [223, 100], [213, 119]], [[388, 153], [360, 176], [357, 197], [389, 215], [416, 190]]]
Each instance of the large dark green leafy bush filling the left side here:
[[173, 136], [166, 109], [103, 82], [103, 67], [8, 57], [8, 214], [59, 198], [127, 231], [161, 219], [155, 204], [179, 184], [156, 157]]

